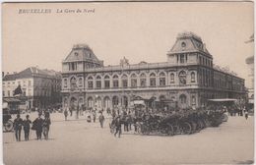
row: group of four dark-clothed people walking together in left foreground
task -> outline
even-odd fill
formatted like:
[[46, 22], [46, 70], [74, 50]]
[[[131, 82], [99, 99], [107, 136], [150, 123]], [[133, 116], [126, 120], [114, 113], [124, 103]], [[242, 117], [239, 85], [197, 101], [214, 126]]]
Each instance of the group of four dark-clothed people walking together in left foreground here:
[[[44, 118], [42, 118], [44, 116]], [[26, 116], [26, 119], [22, 119], [20, 114], [17, 114], [14, 120], [14, 131], [15, 138], [17, 141], [21, 141], [21, 133], [24, 130], [25, 140], [30, 140], [31, 130], [35, 131], [36, 139], [42, 139], [43, 134], [45, 139], [48, 139], [49, 129], [50, 129], [50, 113], [44, 111], [43, 114], [38, 112], [38, 117], [32, 122], [30, 115]]]

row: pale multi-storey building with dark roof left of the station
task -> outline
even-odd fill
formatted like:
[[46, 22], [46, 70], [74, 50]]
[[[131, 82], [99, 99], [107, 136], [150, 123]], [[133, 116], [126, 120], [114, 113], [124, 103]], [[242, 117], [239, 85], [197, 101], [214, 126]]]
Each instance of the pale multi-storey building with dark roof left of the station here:
[[[15, 89], [21, 93], [14, 95]], [[20, 73], [7, 73], [3, 77], [3, 97], [18, 98], [24, 107], [45, 108], [61, 102], [61, 74], [52, 70], [30, 67]]]

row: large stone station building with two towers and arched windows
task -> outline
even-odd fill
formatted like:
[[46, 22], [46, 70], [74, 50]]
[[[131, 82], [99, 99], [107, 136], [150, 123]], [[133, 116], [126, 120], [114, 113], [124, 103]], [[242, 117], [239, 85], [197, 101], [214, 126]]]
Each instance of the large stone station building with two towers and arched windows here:
[[177, 102], [181, 108], [201, 107], [212, 98], [243, 98], [244, 80], [214, 65], [201, 37], [180, 33], [166, 62], [104, 66], [86, 44], [75, 45], [62, 61], [63, 106], [130, 107], [134, 96]]

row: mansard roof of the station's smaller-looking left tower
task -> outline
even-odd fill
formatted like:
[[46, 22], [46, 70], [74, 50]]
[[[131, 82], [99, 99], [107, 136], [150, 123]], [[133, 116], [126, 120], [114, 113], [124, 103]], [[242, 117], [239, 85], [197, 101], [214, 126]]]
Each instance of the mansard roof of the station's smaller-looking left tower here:
[[73, 61], [93, 61], [101, 64], [93, 50], [87, 44], [74, 45], [71, 52], [63, 62]]

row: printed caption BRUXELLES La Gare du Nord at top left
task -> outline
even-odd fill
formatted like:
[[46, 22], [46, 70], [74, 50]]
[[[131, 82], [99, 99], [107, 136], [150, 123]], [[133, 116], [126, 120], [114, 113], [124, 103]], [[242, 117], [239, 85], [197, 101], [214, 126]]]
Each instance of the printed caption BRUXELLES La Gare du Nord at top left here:
[[[52, 9], [19, 9], [19, 14], [50, 14]], [[95, 13], [95, 9], [56, 9], [55, 13]]]

